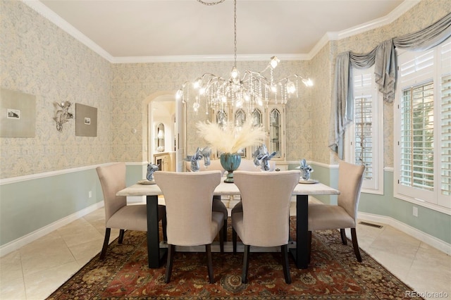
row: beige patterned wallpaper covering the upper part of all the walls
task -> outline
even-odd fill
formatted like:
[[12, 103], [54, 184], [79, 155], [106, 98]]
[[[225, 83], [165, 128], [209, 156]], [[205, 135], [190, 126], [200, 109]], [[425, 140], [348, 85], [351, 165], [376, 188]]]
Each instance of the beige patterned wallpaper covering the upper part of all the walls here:
[[[0, 138], [1, 178], [63, 170], [108, 161], [147, 161], [147, 104], [174, 94], [182, 82], [205, 72], [226, 75], [230, 62], [111, 64], [21, 1], [0, 1], [1, 87], [34, 94], [35, 138]], [[287, 104], [287, 160], [334, 163], [328, 149], [330, 95], [336, 54], [366, 53], [391, 37], [420, 30], [451, 11], [451, 1], [424, 0], [398, 20], [329, 42], [311, 61], [282, 61], [275, 77], [292, 73], [315, 82]], [[262, 70], [266, 62], [238, 62]], [[54, 102], [98, 109], [97, 137], [76, 137], [75, 122], [56, 131]], [[72, 108], [75, 113], [75, 108]], [[204, 115], [187, 109], [187, 151], [203, 144], [194, 123]], [[393, 109], [384, 106], [384, 165], [393, 166]]]

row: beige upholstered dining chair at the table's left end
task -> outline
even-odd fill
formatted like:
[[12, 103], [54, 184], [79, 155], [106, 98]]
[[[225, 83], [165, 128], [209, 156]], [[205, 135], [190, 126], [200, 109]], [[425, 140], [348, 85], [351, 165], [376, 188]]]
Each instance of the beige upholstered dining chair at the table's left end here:
[[[125, 163], [99, 166], [97, 175], [104, 194], [105, 204], [105, 239], [100, 259], [106, 255], [111, 228], [119, 229], [119, 244], [122, 244], [125, 230], [147, 231], [147, 208], [145, 204], [127, 205], [126, 196], [116, 196], [125, 189]], [[166, 208], [159, 205], [159, 220], [163, 227], [163, 239], [166, 240]]]

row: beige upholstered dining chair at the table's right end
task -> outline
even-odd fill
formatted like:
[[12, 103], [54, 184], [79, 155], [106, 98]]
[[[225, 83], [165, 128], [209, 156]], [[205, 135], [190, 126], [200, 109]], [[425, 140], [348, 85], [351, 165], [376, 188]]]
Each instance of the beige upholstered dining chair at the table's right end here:
[[354, 254], [357, 261], [362, 261], [357, 242], [356, 219], [364, 170], [364, 165], [340, 161], [338, 165], [338, 190], [340, 191], [338, 205], [309, 203], [309, 257], [312, 231], [339, 228], [342, 243], [347, 244], [345, 228], [350, 228]]

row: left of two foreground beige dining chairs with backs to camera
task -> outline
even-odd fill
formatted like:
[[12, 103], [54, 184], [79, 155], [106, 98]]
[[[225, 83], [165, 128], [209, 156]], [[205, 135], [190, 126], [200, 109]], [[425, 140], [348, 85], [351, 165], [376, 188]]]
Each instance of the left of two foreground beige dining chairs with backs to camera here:
[[[209, 282], [214, 283], [211, 243], [223, 227], [224, 215], [212, 211], [214, 189], [221, 182], [220, 171], [156, 172], [155, 182], [161, 188], [166, 202], [168, 220], [168, 261], [166, 278], [171, 280], [175, 245], [205, 245]], [[223, 234], [219, 234], [221, 252], [224, 251]]]

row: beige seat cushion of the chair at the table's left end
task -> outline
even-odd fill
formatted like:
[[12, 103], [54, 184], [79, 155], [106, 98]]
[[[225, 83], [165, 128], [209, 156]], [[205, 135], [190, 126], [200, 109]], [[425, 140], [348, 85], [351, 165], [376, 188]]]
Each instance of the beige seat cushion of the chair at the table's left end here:
[[145, 204], [123, 206], [106, 222], [107, 228], [147, 231], [147, 207]]

